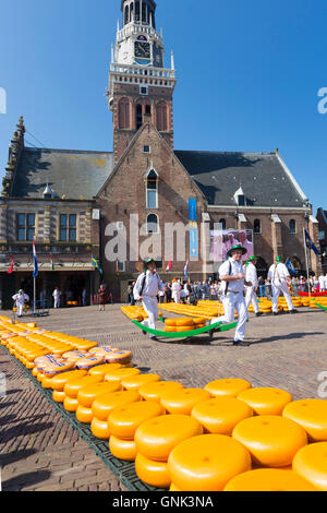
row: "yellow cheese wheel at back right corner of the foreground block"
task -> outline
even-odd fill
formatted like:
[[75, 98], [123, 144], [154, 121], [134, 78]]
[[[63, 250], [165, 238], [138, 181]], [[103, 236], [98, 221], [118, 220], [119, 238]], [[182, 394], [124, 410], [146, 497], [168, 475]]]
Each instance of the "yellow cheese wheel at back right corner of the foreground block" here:
[[257, 415], [281, 415], [283, 408], [292, 401], [291, 394], [281, 389], [250, 389], [238, 395]]

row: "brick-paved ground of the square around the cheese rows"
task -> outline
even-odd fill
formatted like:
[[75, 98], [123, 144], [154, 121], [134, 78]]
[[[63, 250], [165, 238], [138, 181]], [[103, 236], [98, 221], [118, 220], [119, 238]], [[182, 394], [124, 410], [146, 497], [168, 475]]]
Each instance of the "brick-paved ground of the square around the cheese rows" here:
[[[119, 306], [109, 306], [106, 312], [96, 307], [51, 310], [37, 322], [100, 345], [131, 349], [134, 363], [143, 371], [184, 386], [233, 377], [246, 379], [253, 386], [288, 390], [294, 398], [318, 397], [317, 377], [327, 371], [327, 314], [319, 310], [304, 308], [299, 314], [277, 318], [251, 314], [246, 326], [250, 347], [232, 346], [233, 332], [217, 333], [211, 342], [207, 335], [193, 342], [152, 342]], [[3, 490], [125, 490], [2, 348], [0, 371], [5, 373], [8, 386], [7, 397], [0, 398]]]

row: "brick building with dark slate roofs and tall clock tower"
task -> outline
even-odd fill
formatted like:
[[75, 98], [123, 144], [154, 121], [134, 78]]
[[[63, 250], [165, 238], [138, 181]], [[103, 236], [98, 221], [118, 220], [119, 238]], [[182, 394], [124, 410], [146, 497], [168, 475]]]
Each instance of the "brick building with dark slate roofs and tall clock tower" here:
[[[0, 199], [3, 306], [31, 281], [33, 231], [41, 263], [38, 291], [49, 296], [58, 284], [71, 289], [74, 299], [83, 287], [92, 298], [99, 285], [93, 254], [118, 300], [125, 298], [146, 255], [156, 259], [164, 279], [182, 275], [186, 261], [191, 278], [215, 275], [218, 263], [209, 256], [215, 224], [253, 230], [263, 274], [277, 254], [305, 269], [304, 227], [318, 246], [310, 201], [277, 150], [174, 150], [177, 74], [173, 55], [170, 67], [164, 64], [156, 3], [122, 0], [121, 10], [107, 93], [113, 152], [25, 147], [22, 118], [11, 142]], [[195, 204], [192, 219], [190, 200]], [[17, 264], [12, 275], [7, 274], [10, 254]], [[166, 272], [170, 260], [172, 270]], [[311, 267], [320, 272], [314, 254]]]

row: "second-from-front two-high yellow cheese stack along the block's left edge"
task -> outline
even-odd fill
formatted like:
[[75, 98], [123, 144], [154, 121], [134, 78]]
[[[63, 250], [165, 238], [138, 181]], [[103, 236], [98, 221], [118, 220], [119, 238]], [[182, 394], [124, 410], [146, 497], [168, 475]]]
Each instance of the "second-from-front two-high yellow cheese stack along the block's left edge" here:
[[164, 414], [159, 403], [138, 401], [116, 408], [109, 415], [108, 429], [110, 432], [109, 449], [119, 460], [133, 462], [136, 457], [135, 432], [146, 420]]

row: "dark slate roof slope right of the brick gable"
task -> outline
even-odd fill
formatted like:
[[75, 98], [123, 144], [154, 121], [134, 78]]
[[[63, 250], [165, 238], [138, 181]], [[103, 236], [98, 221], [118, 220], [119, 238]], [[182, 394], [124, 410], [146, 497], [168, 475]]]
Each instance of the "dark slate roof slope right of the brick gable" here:
[[302, 207], [306, 198], [276, 153], [175, 151], [209, 205], [237, 206], [244, 191], [249, 206]]

